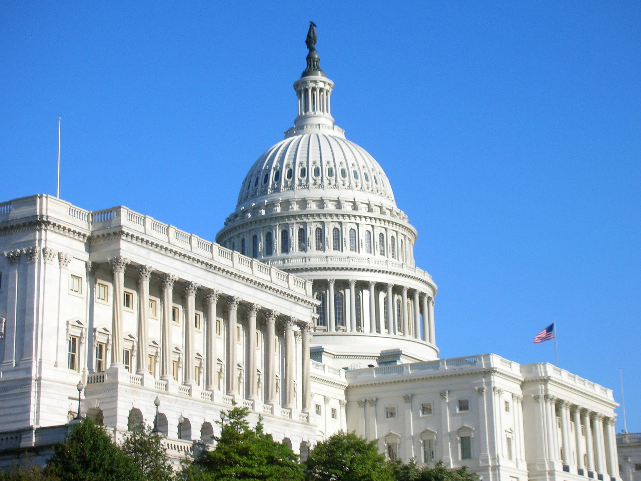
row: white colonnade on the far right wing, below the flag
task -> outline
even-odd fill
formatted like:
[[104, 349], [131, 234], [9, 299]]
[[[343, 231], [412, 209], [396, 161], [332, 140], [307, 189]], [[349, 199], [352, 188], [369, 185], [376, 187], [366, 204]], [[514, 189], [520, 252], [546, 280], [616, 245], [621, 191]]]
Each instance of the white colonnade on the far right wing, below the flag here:
[[576, 469], [576, 474], [599, 481], [619, 477], [614, 418], [551, 394], [545, 394], [544, 403], [550, 460], [560, 460], [564, 471]]

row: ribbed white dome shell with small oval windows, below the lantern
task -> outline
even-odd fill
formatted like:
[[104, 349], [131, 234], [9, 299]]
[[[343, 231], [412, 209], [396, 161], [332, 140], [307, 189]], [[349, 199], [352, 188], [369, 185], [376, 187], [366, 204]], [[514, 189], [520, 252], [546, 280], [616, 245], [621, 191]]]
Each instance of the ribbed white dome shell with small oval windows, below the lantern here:
[[[324, 190], [319, 196], [364, 201], [395, 207], [394, 194], [381, 166], [362, 147], [345, 139], [335, 126], [305, 126], [286, 132], [254, 165], [240, 188], [238, 207], [257, 203], [270, 194], [290, 190]], [[316, 130], [316, 131], [314, 131]]]

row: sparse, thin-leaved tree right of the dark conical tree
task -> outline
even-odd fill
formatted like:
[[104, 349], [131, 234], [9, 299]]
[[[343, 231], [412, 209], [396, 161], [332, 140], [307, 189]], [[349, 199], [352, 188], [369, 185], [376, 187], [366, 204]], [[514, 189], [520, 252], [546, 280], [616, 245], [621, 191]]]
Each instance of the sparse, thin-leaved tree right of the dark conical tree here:
[[151, 426], [139, 423], [124, 435], [121, 450], [149, 480], [170, 481], [176, 478], [160, 435]]

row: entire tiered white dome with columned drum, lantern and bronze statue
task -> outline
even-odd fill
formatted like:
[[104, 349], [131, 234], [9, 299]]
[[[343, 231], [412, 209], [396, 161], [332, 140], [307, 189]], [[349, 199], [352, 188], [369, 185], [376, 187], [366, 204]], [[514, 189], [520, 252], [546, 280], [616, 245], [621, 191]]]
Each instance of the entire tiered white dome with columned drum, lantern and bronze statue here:
[[313, 359], [347, 368], [437, 359], [437, 286], [415, 266], [418, 233], [378, 162], [335, 125], [334, 83], [315, 43], [312, 24], [294, 126], [251, 166], [216, 241], [312, 282]]

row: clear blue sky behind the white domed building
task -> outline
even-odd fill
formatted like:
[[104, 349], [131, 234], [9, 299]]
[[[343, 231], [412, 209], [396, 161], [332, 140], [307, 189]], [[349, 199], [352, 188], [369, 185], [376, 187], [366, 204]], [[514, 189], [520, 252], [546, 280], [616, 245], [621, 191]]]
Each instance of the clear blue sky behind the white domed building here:
[[641, 431], [639, 2], [3, 1], [1, 198], [55, 194], [62, 117], [62, 198], [213, 240], [292, 125], [310, 20], [419, 231], [442, 357], [554, 362], [556, 317], [561, 367], [617, 401], [622, 367]]

